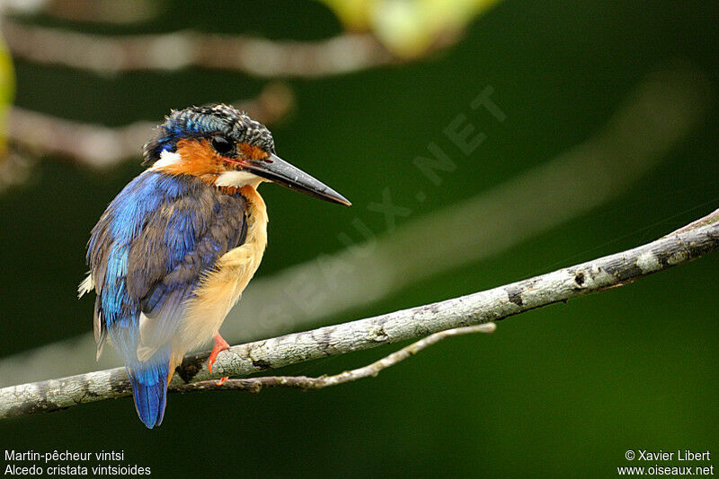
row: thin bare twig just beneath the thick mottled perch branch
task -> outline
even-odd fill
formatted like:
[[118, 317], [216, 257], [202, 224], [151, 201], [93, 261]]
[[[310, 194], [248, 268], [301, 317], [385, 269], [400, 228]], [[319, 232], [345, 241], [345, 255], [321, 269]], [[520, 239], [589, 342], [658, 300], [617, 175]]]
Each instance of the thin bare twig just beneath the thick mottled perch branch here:
[[455, 327], [429, 335], [421, 340], [404, 346], [404, 348], [389, 354], [379, 361], [368, 364], [355, 370], [346, 370], [333, 376], [320, 376], [319, 378], [308, 378], [307, 376], [263, 376], [261, 378], [227, 379], [224, 383], [217, 381], [200, 381], [179, 384], [171, 388], [172, 391], [187, 393], [192, 391], [211, 391], [215, 389], [237, 389], [259, 393], [262, 388], [298, 388], [298, 389], [322, 389], [330, 386], [337, 386], [346, 382], [356, 381], [375, 377], [381, 370], [394, 366], [400, 361], [413, 356], [422, 349], [437, 344], [442, 339], [458, 335], [471, 335], [474, 333], [493, 333], [497, 328], [494, 323], [484, 323], [476, 326]]

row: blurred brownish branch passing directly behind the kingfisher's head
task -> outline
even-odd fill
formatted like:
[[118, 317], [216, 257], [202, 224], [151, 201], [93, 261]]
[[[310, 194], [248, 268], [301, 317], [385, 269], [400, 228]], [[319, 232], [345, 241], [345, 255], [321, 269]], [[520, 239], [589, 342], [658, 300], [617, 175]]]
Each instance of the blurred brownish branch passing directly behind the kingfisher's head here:
[[[294, 98], [288, 87], [270, 83], [253, 100], [240, 100], [235, 107], [265, 124], [277, 122], [292, 108]], [[10, 110], [9, 139], [37, 155], [58, 154], [79, 163], [106, 167], [137, 157], [155, 123], [138, 121], [128, 126], [76, 123], [44, 113], [13, 107]]]

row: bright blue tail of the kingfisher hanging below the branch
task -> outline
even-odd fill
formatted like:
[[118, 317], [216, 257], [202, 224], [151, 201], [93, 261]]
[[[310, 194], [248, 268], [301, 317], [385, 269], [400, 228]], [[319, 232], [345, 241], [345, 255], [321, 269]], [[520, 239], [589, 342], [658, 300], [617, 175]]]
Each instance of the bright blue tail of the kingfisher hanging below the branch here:
[[146, 366], [146, 370], [128, 371], [128, 376], [140, 421], [152, 429], [163, 422], [169, 365], [165, 363]]

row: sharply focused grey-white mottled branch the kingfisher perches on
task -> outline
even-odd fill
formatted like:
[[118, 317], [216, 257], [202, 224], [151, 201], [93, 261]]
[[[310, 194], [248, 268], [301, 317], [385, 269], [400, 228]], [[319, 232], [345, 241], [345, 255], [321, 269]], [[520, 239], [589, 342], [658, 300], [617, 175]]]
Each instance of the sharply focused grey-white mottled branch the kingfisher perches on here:
[[[695, 226], [685, 227], [638, 248], [492, 290], [375, 318], [233, 346], [218, 354], [212, 373], [207, 370], [209, 353], [187, 356], [170, 387], [182, 390], [186, 383], [244, 376], [382, 344], [395, 344], [451, 328], [498, 321], [530, 309], [623, 286], [719, 248], [719, 209], [693, 224]], [[372, 366], [368, 368], [372, 370]], [[282, 386], [280, 380], [275, 381], [274, 385]], [[297, 384], [301, 383], [297, 379]], [[57, 411], [130, 394], [124, 368], [22, 384], [0, 389], [0, 418]]]

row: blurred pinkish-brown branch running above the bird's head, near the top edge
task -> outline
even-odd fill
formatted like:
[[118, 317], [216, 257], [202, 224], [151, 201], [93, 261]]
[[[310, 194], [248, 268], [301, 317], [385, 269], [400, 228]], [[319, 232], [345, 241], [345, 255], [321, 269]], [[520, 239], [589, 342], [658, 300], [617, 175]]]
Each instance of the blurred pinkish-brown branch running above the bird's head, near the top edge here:
[[273, 41], [191, 30], [104, 36], [5, 19], [15, 57], [98, 74], [202, 66], [264, 77], [320, 77], [400, 63], [368, 33], [318, 41]]

